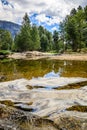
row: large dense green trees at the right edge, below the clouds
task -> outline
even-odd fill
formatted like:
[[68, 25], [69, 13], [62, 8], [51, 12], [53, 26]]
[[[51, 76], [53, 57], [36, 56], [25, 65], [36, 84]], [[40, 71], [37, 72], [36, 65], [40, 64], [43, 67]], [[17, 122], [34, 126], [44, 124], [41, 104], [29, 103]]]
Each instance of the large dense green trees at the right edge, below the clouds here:
[[65, 42], [65, 50], [81, 51], [87, 46], [87, 6], [72, 9], [70, 15], [60, 24], [60, 38]]

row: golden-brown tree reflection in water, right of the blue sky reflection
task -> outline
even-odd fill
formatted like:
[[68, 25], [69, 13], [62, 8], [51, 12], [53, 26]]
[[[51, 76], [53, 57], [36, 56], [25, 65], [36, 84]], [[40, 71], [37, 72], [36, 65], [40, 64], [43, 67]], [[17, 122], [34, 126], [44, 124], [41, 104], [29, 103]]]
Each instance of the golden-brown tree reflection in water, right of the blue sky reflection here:
[[64, 61], [64, 77], [87, 77], [87, 61]]

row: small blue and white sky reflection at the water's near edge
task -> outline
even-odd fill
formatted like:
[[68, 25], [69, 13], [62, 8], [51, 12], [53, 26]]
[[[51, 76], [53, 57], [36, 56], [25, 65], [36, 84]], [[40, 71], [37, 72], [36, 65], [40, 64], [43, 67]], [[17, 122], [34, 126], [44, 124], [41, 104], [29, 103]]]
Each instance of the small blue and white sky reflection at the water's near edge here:
[[60, 77], [61, 73], [63, 72], [62, 68], [59, 68], [58, 72], [55, 73], [54, 70], [44, 75], [44, 78], [53, 78], [53, 77]]

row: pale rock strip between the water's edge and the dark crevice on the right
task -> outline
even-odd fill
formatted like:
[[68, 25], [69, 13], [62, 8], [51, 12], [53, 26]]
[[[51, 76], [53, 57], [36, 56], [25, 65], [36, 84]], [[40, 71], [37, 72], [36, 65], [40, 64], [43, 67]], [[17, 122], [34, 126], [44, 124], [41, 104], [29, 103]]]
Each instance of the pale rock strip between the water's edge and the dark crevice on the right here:
[[48, 88], [57, 88], [66, 86], [69, 84], [79, 83], [87, 81], [87, 78], [64, 78], [64, 77], [52, 77], [52, 78], [33, 78], [28, 84], [31, 86], [43, 86]]

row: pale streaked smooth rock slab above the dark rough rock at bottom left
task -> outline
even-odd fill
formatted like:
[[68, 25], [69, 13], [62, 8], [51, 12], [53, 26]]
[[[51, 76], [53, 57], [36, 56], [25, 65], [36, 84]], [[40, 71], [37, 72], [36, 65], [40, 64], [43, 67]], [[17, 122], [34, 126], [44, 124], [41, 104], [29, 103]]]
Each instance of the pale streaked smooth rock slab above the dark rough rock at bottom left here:
[[[32, 114], [48, 118], [64, 128], [61, 121], [66, 123], [65, 129], [76, 130], [77, 127], [68, 128], [67, 121], [79, 127], [77, 130], [86, 130], [87, 113], [77, 111], [67, 111], [66, 109], [74, 105], [87, 106], [87, 86], [71, 90], [45, 89], [45, 87], [62, 87], [69, 84], [87, 81], [86, 78], [33, 78], [31, 80], [19, 79], [0, 83], [0, 100], [11, 100], [15, 107], [22, 110], [28, 109]], [[44, 88], [28, 89], [27, 86], [43, 86]], [[66, 121], [67, 119], [67, 121]], [[58, 124], [59, 125], [59, 124]], [[81, 127], [82, 125], [82, 127]], [[83, 128], [83, 129], [82, 129]]]

